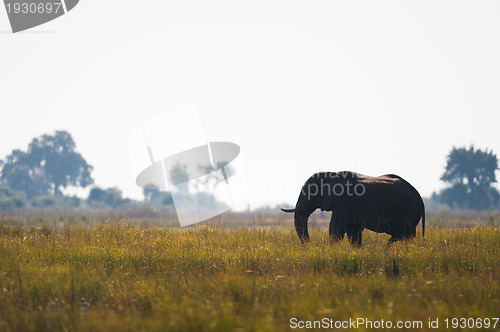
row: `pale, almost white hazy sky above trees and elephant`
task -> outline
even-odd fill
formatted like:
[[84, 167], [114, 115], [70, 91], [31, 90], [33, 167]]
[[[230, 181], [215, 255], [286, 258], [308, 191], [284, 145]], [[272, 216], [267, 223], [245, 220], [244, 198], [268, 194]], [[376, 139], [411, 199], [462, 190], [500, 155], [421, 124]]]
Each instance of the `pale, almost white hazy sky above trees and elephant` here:
[[97, 185], [140, 198], [129, 133], [194, 104], [207, 139], [240, 145], [252, 207], [293, 205], [323, 170], [427, 196], [453, 146], [500, 154], [499, 17], [498, 1], [81, 0], [12, 34], [0, 8], [0, 158], [64, 129]]

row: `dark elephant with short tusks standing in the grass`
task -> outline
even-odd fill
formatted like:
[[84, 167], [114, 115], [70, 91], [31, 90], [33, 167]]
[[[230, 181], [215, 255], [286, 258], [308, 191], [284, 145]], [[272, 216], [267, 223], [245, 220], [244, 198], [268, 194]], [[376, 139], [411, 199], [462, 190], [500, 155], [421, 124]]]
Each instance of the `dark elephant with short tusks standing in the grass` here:
[[316, 209], [332, 211], [329, 235], [334, 241], [347, 233], [361, 246], [363, 230], [391, 235], [389, 244], [414, 238], [422, 219], [425, 240], [425, 206], [418, 191], [400, 176], [372, 177], [355, 172], [319, 172], [303, 185], [293, 209], [295, 229], [302, 243], [309, 241], [307, 219]]

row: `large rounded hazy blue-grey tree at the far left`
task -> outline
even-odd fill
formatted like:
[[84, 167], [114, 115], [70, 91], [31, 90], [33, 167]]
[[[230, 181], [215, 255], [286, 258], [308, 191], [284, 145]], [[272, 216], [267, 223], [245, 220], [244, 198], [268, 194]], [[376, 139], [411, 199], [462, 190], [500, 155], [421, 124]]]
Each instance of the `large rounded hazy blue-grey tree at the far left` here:
[[73, 138], [66, 131], [34, 138], [27, 152], [14, 150], [0, 164], [0, 181], [24, 191], [28, 199], [59, 194], [67, 186], [91, 185], [94, 182], [92, 166], [75, 148]]

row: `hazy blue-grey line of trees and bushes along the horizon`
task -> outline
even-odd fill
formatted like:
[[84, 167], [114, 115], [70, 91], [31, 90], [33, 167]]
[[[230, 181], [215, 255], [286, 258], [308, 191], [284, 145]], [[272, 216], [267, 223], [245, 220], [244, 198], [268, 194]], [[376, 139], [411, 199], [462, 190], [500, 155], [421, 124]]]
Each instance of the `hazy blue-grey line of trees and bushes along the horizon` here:
[[[434, 192], [426, 205], [477, 211], [499, 209], [500, 194], [494, 187], [498, 169], [498, 159], [492, 151], [473, 146], [454, 147], [447, 156], [441, 176], [448, 187]], [[93, 186], [92, 170], [93, 167], [76, 151], [76, 144], [67, 131], [36, 137], [26, 151], [15, 149], [0, 160], [0, 209], [137, 206], [139, 202], [124, 198], [118, 188]], [[88, 186], [93, 187], [84, 200], [63, 194], [68, 187]], [[143, 203], [173, 204], [169, 192], [152, 187], [144, 189], [143, 193]]]

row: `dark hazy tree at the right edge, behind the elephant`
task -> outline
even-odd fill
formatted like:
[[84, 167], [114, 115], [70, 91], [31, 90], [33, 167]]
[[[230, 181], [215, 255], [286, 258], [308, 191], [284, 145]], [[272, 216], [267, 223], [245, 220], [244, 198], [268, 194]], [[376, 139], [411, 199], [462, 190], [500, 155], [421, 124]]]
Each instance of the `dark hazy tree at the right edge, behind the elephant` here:
[[441, 201], [452, 208], [487, 210], [496, 208], [500, 199], [496, 182], [498, 159], [492, 151], [453, 148], [447, 158], [442, 181], [451, 184], [443, 190]]

